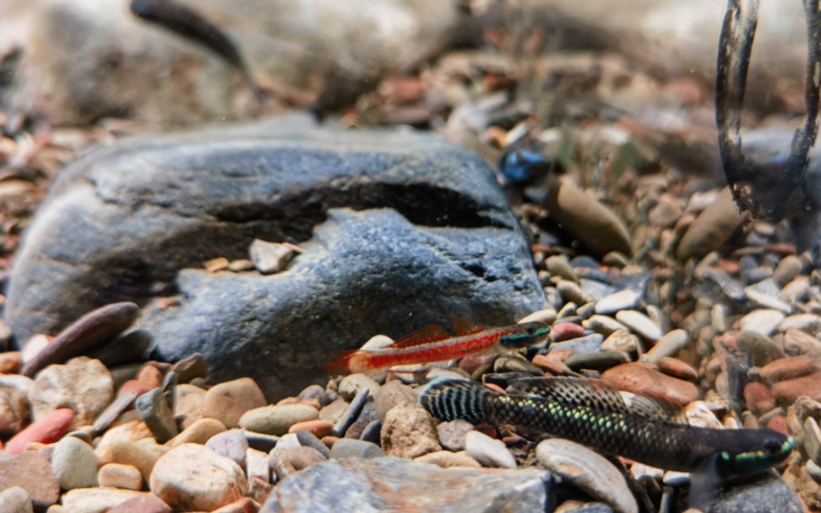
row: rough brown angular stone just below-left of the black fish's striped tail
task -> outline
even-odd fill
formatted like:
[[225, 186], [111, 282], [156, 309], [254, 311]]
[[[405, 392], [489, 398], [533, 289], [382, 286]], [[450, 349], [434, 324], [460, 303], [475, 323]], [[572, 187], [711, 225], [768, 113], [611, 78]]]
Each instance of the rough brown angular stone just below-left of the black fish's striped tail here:
[[407, 403], [396, 405], [385, 414], [382, 447], [388, 456], [402, 458], [415, 458], [442, 450], [433, 418], [420, 405]]

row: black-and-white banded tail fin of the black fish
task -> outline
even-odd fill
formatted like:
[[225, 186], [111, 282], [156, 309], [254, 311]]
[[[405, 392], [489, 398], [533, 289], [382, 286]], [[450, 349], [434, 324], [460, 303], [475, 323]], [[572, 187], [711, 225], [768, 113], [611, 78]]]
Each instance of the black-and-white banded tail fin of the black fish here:
[[472, 424], [490, 421], [490, 401], [498, 395], [479, 383], [461, 378], [437, 378], [426, 385], [420, 403], [430, 415], [443, 420], [465, 419]]

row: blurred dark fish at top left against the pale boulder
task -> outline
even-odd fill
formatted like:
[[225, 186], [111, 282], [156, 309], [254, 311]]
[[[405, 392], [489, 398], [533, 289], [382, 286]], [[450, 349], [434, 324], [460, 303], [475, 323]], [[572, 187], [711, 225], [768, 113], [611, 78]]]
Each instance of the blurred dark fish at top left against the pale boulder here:
[[131, 0], [129, 7], [135, 16], [199, 43], [222, 57], [228, 64], [242, 72], [257, 100], [264, 101], [265, 94], [259, 90], [240, 50], [236, 48], [231, 38], [217, 26], [188, 7], [170, 0]]

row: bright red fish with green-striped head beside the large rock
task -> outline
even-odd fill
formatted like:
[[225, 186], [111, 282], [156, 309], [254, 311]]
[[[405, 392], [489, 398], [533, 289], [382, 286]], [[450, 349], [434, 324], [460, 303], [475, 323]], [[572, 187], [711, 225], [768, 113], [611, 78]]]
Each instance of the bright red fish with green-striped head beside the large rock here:
[[394, 342], [382, 350], [352, 350], [339, 355], [339, 362], [326, 365], [328, 372], [368, 373], [398, 365], [433, 364], [456, 358], [495, 355], [545, 341], [550, 327], [530, 322], [484, 329], [463, 318], [453, 318], [458, 335], [442, 327], [429, 326]]

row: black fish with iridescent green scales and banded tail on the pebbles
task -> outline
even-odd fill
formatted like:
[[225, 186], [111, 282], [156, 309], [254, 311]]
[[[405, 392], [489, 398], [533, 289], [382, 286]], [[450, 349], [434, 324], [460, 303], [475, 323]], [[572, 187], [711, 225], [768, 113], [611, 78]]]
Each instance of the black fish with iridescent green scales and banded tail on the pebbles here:
[[[443, 420], [512, 424], [585, 444], [660, 469], [704, 471], [725, 478], [781, 463], [795, 441], [773, 429], [710, 429], [663, 419], [660, 409], [628, 406], [617, 390], [581, 378], [534, 378], [509, 394], [458, 378], [439, 378], [420, 402]], [[658, 406], [657, 406], [658, 408]]]

